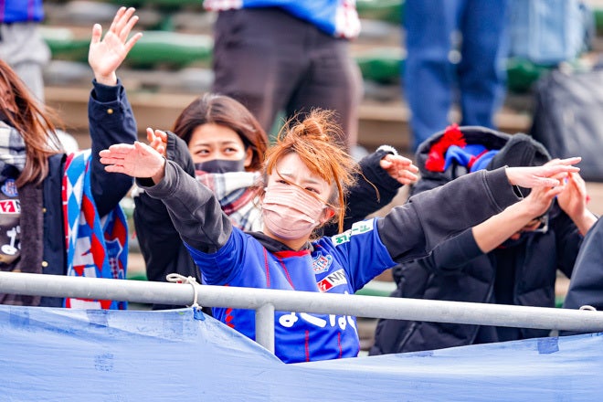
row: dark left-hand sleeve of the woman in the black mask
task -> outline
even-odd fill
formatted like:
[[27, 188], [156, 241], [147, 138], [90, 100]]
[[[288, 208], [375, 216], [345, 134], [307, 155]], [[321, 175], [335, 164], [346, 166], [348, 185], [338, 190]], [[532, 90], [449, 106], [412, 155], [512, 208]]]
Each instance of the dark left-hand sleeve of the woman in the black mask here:
[[[195, 167], [186, 143], [167, 132], [166, 157], [195, 175]], [[149, 280], [165, 281], [169, 273], [200, 278], [195, 262], [176, 231], [164, 203], [141, 191], [134, 196], [134, 227], [146, 264]]]

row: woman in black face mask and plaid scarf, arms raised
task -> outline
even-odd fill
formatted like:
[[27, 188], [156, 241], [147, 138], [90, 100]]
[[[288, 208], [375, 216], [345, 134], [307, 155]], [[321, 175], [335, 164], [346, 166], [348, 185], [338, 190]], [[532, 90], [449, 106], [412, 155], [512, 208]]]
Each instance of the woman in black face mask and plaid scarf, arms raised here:
[[[262, 228], [256, 182], [269, 143], [258, 120], [238, 100], [206, 93], [176, 118], [173, 132], [147, 130], [152, 146], [210, 188], [231, 223], [245, 231]], [[417, 180], [418, 167], [390, 146], [381, 146], [360, 161], [357, 184], [346, 197], [344, 228], [386, 206], [401, 185]], [[134, 225], [149, 280], [170, 273], [200, 278], [161, 200], [135, 191]], [[326, 234], [337, 225], [323, 227]], [[173, 306], [153, 304], [153, 309]], [[180, 307], [180, 306], [178, 306]]]

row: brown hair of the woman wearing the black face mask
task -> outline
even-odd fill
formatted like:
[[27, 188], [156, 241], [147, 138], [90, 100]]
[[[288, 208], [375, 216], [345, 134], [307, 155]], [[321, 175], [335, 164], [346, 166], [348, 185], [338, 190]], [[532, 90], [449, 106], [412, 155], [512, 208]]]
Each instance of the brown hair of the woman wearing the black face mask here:
[[185, 143], [190, 143], [196, 127], [206, 123], [223, 125], [237, 132], [245, 147], [249, 147], [253, 153], [251, 164], [246, 169], [258, 171], [261, 168], [268, 146], [268, 135], [253, 114], [238, 100], [226, 95], [206, 93], [186, 106], [176, 119], [172, 131]]

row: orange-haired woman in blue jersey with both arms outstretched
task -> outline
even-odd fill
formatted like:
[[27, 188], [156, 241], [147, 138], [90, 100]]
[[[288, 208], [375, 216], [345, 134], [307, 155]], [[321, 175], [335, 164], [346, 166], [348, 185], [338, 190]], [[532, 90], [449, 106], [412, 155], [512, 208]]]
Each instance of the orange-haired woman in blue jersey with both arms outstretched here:
[[[334, 220], [341, 227], [344, 195], [357, 164], [334, 139], [339, 128], [328, 111], [291, 122], [267, 153], [260, 185], [261, 232], [233, 227], [217, 198], [175, 163], [143, 143], [100, 152], [108, 172], [138, 177], [161, 199], [203, 282], [289, 291], [352, 294], [397, 261], [425, 256], [452, 233], [511, 206], [514, 185], [561, 186], [579, 158], [541, 167], [501, 168], [465, 175], [414, 197], [385, 217], [357, 222], [333, 237], [316, 236]], [[483, 199], [466, 207], [467, 200]], [[255, 312], [214, 308], [214, 316], [255, 339]], [[354, 317], [275, 312], [275, 354], [286, 363], [352, 357], [360, 345]]]

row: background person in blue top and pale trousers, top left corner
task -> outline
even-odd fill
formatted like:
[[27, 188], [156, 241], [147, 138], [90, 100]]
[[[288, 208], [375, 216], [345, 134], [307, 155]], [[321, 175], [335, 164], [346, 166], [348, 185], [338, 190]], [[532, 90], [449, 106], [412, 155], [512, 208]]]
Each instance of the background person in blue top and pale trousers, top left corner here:
[[42, 0], [0, 1], [0, 58], [41, 103], [45, 100], [42, 69], [50, 60], [50, 49], [38, 29], [43, 20]]

